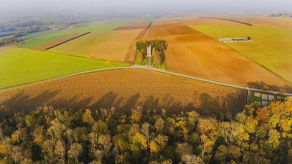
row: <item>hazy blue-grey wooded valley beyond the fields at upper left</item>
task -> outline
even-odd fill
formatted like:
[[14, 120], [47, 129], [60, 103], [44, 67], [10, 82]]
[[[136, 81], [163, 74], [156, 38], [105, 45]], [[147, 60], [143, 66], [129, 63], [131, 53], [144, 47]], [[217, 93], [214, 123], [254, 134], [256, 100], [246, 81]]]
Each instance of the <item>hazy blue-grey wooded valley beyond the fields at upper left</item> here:
[[[140, 17], [141, 13], [110, 12], [110, 13], [41, 13], [41, 19], [37, 20], [13, 20], [0, 23], [0, 37], [30, 33], [31, 31], [44, 31], [48, 25], [70, 26], [72, 24], [86, 23], [98, 20], [115, 18]], [[27, 17], [29, 18], [29, 17]]]

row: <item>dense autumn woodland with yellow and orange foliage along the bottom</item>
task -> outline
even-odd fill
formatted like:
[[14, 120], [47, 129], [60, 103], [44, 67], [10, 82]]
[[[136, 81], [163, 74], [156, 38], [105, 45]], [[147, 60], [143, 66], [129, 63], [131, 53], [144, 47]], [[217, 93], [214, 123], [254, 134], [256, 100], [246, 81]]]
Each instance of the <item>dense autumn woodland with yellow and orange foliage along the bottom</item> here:
[[115, 108], [0, 108], [0, 163], [276, 164], [292, 162], [291, 98], [235, 114]]

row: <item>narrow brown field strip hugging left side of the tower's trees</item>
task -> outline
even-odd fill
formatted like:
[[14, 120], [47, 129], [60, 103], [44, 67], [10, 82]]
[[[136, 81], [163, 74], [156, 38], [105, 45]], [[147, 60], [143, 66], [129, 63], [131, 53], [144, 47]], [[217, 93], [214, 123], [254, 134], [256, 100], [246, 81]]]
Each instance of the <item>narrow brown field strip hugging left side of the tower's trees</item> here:
[[133, 41], [133, 43], [130, 45], [130, 47], [129, 47], [128, 51], [127, 51], [125, 62], [130, 63], [130, 64], [134, 64], [135, 55], [136, 55], [136, 49], [137, 49], [136, 48], [136, 42], [145, 39], [147, 34], [148, 34], [148, 32], [149, 32], [149, 28], [143, 29], [143, 31], [141, 31], [141, 33]]

